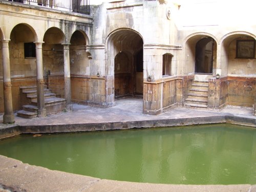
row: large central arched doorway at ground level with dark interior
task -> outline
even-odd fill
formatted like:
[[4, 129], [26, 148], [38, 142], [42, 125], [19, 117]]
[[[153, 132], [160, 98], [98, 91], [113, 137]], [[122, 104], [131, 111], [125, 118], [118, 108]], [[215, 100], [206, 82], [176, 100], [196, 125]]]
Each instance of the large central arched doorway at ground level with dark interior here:
[[117, 30], [110, 35], [107, 49], [106, 73], [114, 75], [114, 97], [142, 97], [142, 37], [131, 29]]

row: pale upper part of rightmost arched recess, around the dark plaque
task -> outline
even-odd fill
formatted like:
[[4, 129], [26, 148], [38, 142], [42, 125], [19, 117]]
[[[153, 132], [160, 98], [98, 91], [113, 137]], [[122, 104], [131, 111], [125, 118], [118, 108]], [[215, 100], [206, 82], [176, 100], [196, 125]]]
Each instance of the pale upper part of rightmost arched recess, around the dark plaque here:
[[252, 75], [256, 71], [256, 61], [255, 61], [255, 52], [254, 58], [238, 58], [236, 55], [237, 51], [237, 40], [254, 40], [256, 36], [252, 33], [246, 31], [234, 31], [224, 35], [221, 42], [221, 69], [222, 76], [227, 75]]

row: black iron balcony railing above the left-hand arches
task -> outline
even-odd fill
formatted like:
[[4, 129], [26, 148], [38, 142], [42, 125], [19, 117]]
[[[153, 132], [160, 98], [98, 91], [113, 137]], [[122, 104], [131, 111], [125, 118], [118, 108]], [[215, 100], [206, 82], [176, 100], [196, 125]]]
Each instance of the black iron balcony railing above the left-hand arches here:
[[34, 6], [90, 15], [90, 0], [8, 0]]

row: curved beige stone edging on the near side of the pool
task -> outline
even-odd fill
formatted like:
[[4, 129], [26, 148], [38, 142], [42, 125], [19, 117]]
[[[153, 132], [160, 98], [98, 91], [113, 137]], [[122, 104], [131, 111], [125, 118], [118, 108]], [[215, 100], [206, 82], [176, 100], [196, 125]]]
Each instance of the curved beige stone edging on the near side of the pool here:
[[174, 185], [105, 180], [29, 165], [0, 155], [0, 191], [255, 192], [255, 185]]

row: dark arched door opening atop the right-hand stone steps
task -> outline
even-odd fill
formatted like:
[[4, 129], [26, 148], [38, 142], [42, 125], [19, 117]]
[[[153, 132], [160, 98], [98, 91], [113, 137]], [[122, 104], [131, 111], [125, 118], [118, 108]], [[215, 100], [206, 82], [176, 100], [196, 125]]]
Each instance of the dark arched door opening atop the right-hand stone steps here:
[[195, 73], [212, 74], [214, 39], [205, 37], [196, 44]]

